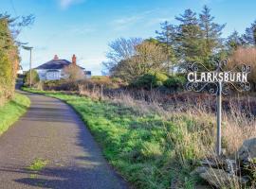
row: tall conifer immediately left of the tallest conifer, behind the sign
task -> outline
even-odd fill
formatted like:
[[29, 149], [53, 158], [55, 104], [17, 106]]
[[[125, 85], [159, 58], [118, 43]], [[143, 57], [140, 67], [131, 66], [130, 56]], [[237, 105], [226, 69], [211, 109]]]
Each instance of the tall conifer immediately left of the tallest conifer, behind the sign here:
[[176, 38], [179, 59], [184, 63], [202, 62], [203, 31], [198, 25], [196, 13], [191, 9], [186, 9], [183, 14], [175, 17], [175, 19], [180, 22]]

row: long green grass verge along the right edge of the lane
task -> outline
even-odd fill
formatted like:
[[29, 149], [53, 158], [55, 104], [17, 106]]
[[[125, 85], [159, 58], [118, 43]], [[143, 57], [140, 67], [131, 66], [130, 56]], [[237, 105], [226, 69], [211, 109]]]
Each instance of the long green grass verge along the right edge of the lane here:
[[186, 139], [181, 131], [189, 129], [192, 120], [184, 117], [177, 124], [155, 113], [139, 113], [107, 101], [25, 90], [62, 99], [79, 112], [101, 144], [105, 158], [135, 188], [170, 188], [174, 179], [180, 188], [193, 188], [196, 178], [189, 174], [193, 168], [190, 162], [196, 158], [198, 147], [192, 140], [198, 141], [198, 136]]

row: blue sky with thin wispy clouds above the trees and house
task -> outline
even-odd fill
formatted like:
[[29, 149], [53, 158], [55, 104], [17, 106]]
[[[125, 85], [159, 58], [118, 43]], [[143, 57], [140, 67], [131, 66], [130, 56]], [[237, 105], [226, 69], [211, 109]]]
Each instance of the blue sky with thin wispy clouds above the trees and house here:
[[[23, 29], [19, 39], [34, 46], [33, 67], [59, 58], [71, 60], [76, 54], [80, 65], [101, 75], [108, 43], [119, 37], [155, 37], [159, 23], [184, 9], [200, 12], [208, 5], [215, 21], [227, 23], [226, 37], [234, 29], [243, 33], [255, 19], [255, 0], [0, 0], [0, 12], [13, 16], [34, 14], [33, 26]], [[22, 65], [28, 53], [21, 50]]]

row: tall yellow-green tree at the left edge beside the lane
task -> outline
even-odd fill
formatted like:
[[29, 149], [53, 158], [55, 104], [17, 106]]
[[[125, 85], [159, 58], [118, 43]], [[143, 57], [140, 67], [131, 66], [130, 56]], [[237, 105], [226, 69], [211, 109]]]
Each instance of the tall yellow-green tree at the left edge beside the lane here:
[[0, 14], [0, 105], [14, 94], [16, 71], [19, 67], [17, 35], [32, 24], [32, 16], [11, 18]]

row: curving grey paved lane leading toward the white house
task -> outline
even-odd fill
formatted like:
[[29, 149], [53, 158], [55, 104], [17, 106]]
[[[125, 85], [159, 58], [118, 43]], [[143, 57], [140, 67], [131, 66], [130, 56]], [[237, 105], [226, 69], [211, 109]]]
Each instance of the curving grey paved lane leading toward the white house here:
[[[0, 136], [0, 189], [128, 188], [69, 106], [51, 97], [27, 95], [31, 107]], [[36, 159], [48, 162], [38, 173], [27, 169]]]

